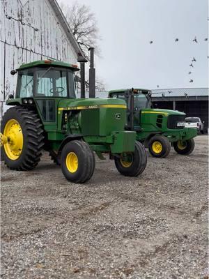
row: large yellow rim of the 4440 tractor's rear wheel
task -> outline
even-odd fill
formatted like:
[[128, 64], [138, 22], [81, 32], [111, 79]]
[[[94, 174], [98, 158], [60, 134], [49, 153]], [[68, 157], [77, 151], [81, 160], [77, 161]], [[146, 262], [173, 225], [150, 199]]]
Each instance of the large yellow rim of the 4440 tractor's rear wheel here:
[[20, 123], [15, 119], [10, 119], [3, 130], [3, 136], [7, 138], [6, 144], [3, 145], [6, 156], [10, 160], [17, 160], [23, 147], [23, 134]]

